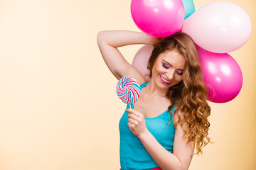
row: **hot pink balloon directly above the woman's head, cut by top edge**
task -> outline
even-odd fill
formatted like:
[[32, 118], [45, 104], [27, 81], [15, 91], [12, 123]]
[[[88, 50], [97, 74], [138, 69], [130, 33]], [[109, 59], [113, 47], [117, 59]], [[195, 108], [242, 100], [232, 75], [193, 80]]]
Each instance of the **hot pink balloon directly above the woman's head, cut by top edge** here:
[[131, 12], [137, 27], [157, 38], [180, 31], [185, 17], [181, 0], [132, 0]]

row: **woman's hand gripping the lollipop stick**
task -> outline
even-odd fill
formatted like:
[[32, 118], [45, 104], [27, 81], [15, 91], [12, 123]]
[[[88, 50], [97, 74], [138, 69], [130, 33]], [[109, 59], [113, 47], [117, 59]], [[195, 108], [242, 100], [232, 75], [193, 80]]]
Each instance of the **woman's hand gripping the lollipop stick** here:
[[128, 108], [127, 112], [129, 113], [127, 125], [131, 132], [137, 137], [143, 135], [147, 131], [144, 115], [132, 108]]

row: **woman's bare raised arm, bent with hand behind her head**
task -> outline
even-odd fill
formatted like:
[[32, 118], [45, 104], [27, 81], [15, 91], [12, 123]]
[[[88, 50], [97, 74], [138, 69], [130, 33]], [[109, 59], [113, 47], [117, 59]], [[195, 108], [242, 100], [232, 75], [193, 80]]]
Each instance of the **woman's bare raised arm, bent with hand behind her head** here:
[[145, 33], [129, 30], [101, 31], [97, 35], [97, 43], [102, 57], [114, 77], [133, 77], [139, 84], [146, 82], [142, 74], [124, 59], [117, 47], [133, 44], [150, 44], [157, 42], [158, 38], [153, 38]]

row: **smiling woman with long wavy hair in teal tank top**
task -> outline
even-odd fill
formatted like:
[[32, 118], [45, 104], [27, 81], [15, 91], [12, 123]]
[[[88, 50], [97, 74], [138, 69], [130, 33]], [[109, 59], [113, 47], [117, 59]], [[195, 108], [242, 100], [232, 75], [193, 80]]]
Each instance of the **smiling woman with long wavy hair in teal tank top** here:
[[[193, 40], [185, 33], [159, 40], [114, 30], [100, 32], [97, 42], [114, 77], [133, 77], [141, 85], [139, 100], [119, 122], [122, 170], [188, 169], [194, 148], [201, 153], [210, 142], [210, 107]], [[117, 50], [132, 44], [154, 45], [149, 82]]]

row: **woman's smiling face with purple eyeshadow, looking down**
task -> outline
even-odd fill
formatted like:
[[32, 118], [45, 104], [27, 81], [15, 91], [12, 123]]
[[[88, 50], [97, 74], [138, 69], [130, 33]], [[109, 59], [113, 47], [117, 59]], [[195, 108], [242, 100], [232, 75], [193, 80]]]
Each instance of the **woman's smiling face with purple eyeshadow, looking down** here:
[[185, 57], [176, 50], [163, 52], [154, 63], [151, 79], [156, 86], [169, 89], [182, 80], [184, 65]]

